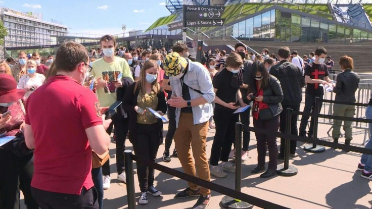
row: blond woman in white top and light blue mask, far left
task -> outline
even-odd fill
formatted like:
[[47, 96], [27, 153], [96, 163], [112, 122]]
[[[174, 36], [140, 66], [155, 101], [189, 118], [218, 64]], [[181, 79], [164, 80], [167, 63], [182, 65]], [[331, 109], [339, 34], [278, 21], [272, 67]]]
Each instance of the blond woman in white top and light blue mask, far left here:
[[39, 73], [36, 73], [37, 65], [35, 61], [29, 60], [26, 63], [27, 74], [23, 75], [18, 82], [18, 88], [25, 88], [28, 87], [28, 90], [23, 98], [23, 100], [27, 100], [27, 98], [31, 95], [31, 93], [36, 90], [36, 88], [40, 87], [44, 81], [45, 76]]

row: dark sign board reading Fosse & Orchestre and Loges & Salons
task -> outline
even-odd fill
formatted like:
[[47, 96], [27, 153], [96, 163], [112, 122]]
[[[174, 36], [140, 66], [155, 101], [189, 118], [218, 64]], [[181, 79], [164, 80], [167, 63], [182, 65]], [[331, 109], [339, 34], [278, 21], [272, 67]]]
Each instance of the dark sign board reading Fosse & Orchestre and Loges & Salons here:
[[225, 7], [183, 5], [184, 27], [222, 26]]

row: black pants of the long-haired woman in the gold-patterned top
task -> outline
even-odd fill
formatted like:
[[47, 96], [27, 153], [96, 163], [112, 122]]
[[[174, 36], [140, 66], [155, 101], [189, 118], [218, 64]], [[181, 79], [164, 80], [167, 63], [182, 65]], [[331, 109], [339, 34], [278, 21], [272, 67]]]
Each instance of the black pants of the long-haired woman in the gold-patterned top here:
[[[144, 161], [155, 162], [156, 154], [160, 145], [158, 124], [144, 125], [136, 124], [135, 141], [133, 141], [134, 153]], [[146, 192], [154, 185], [155, 170], [146, 163], [137, 162], [137, 176], [140, 182], [141, 192]]]

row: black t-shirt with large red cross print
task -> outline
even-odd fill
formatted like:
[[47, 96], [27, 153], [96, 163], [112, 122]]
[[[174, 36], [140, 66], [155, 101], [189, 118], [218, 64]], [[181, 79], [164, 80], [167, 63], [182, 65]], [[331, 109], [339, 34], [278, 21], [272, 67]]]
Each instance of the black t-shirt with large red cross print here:
[[[312, 79], [324, 80], [325, 76], [328, 76], [327, 65], [324, 63], [315, 64], [310, 63], [305, 69], [305, 76], [310, 76]], [[307, 83], [306, 94], [314, 96], [322, 96], [324, 94], [323, 87], [319, 85], [320, 83]]]

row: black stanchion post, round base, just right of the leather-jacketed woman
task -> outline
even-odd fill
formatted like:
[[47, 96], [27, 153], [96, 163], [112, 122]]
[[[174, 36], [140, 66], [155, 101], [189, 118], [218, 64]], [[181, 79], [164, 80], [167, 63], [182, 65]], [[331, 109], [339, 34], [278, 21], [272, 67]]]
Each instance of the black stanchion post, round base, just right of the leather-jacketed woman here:
[[[287, 108], [286, 110], [286, 134], [291, 135], [291, 123], [292, 123], [293, 109]], [[286, 146], [284, 151], [284, 164], [277, 166], [277, 173], [281, 176], [294, 176], [298, 173], [298, 170], [294, 166], [289, 165], [289, 150], [290, 150], [291, 139], [286, 137]], [[281, 144], [282, 146], [283, 144]]]

